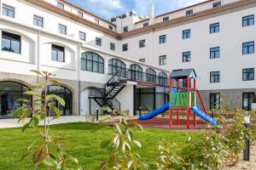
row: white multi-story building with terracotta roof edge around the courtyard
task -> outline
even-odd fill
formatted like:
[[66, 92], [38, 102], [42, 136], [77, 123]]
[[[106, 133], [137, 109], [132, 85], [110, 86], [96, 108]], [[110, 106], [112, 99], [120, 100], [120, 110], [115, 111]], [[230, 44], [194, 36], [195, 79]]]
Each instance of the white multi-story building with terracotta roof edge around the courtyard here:
[[63, 115], [102, 105], [133, 115], [157, 108], [167, 101], [167, 75], [183, 68], [195, 69], [208, 109], [220, 93], [250, 109], [255, 0], [209, 0], [159, 16], [151, 6], [148, 19], [131, 11], [112, 22], [63, 0], [0, 2], [0, 118], [11, 117], [22, 105], [15, 99], [41, 80], [30, 70], [62, 82], [49, 92], [66, 99]]

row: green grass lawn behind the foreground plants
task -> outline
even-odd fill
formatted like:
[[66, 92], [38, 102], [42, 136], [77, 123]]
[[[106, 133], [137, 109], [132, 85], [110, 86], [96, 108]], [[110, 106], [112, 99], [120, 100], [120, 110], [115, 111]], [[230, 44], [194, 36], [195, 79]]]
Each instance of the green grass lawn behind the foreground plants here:
[[[99, 144], [103, 139], [111, 138], [112, 128], [106, 127], [91, 133], [92, 126], [100, 125], [79, 122], [51, 127], [52, 133], [67, 133], [63, 150], [76, 156], [84, 169], [97, 169], [102, 160], [108, 157], [108, 150], [101, 149]], [[0, 169], [33, 169], [31, 158], [21, 163], [20, 158], [26, 154], [27, 147], [36, 138], [32, 129], [25, 133], [21, 133], [20, 128], [0, 129]], [[143, 144], [143, 150], [138, 152], [150, 166], [153, 166], [152, 161], [159, 155], [157, 146], [161, 140], [167, 139], [183, 147], [188, 137], [181, 131], [146, 128], [143, 132], [137, 131], [135, 139]]]

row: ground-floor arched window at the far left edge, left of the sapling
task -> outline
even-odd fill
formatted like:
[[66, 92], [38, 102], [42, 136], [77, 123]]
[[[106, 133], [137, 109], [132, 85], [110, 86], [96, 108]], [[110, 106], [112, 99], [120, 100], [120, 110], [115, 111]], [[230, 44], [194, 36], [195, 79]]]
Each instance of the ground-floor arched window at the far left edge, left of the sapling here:
[[27, 87], [19, 82], [0, 82], [0, 118], [13, 118], [13, 112], [24, 105], [17, 99], [32, 99], [23, 93]]

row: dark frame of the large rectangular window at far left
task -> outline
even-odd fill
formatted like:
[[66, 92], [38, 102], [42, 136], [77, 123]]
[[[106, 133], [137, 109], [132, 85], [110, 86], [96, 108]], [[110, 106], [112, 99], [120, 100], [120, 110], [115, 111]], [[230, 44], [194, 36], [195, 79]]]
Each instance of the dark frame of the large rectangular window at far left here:
[[[6, 37], [3, 36], [3, 34], [6, 33]], [[3, 39], [8, 40], [9, 41], [9, 49], [6, 50], [3, 48]], [[16, 53], [15, 50], [12, 50], [12, 42], [19, 42], [19, 52]], [[1, 43], [2, 43], [2, 47], [1, 50], [5, 51], [5, 52], [9, 52], [9, 53], [15, 53], [15, 54], [21, 54], [21, 36], [17, 35], [17, 34], [13, 34], [11, 32], [8, 31], [2, 31], [1, 32]]]

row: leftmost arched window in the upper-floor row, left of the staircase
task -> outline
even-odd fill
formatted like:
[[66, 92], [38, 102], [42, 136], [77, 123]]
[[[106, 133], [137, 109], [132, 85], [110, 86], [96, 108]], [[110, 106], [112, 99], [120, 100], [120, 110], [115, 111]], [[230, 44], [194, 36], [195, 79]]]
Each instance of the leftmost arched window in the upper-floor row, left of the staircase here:
[[81, 69], [104, 73], [104, 59], [99, 54], [84, 52], [81, 56]]

